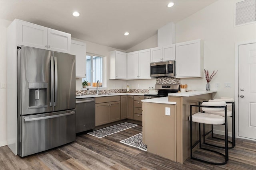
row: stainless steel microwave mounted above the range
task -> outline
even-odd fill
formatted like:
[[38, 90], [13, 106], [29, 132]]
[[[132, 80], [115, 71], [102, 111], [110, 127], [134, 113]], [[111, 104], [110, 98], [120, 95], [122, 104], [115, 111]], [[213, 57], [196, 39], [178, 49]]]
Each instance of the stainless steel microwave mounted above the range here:
[[170, 76], [175, 77], [175, 61], [165, 61], [159, 63], [150, 63], [150, 76], [162, 77]]

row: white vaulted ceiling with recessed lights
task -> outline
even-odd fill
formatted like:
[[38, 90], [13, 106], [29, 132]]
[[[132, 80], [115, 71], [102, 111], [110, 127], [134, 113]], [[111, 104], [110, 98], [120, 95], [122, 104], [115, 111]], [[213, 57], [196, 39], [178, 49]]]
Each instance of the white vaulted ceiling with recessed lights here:
[[[128, 50], [216, 0], [0, 0], [0, 18], [15, 18], [71, 37]], [[169, 2], [174, 6], [168, 8]], [[79, 17], [72, 16], [74, 11]], [[130, 35], [124, 36], [124, 32]]]

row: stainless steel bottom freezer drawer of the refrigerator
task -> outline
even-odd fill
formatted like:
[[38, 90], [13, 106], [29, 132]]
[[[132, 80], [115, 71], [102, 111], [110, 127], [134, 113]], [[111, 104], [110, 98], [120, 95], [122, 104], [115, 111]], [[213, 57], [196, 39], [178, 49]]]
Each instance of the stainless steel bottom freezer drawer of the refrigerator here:
[[20, 156], [76, 140], [76, 110], [22, 116]]

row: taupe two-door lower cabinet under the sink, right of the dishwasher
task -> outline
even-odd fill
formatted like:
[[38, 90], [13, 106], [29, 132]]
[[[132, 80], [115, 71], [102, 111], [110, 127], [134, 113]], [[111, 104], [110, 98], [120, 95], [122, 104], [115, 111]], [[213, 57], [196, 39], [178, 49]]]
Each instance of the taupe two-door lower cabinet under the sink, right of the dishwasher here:
[[120, 120], [120, 107], [120, 96], [95, 98], [95, 125], [99, 126]]

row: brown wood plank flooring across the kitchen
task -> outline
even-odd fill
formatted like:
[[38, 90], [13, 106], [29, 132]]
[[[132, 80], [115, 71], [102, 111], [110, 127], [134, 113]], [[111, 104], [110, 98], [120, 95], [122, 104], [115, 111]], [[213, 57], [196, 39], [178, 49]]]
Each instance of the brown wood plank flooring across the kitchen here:
[[[20, 158], [7, 147], [0, 147], [1, 170], [256, 170], [256, 142], [236, 139], [236, 147], [229, 150], [226, 165], [214, 166], [191, 160], [176, 163], [161, 156], [124, 145], [119, 141], [142, 132], [136, 126], [104, 138], [82, 134], [67, 145]], [[222, 143], [214, 139], [214, 143]], [[214, 158], [206, 150], [195, 155]]]

